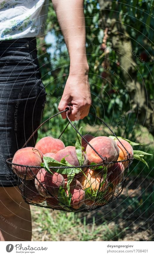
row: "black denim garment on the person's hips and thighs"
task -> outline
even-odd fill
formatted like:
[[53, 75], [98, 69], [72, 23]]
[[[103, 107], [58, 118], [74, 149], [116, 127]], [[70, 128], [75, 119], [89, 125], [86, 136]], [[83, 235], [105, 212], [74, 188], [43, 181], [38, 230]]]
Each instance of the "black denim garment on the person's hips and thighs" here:
[[[39, 126], [45, 99], [36, 38], [0, 41], [0, 186], [16, 186], [5, 161]], [[27, 147], [36, 140], [37, 133]]]

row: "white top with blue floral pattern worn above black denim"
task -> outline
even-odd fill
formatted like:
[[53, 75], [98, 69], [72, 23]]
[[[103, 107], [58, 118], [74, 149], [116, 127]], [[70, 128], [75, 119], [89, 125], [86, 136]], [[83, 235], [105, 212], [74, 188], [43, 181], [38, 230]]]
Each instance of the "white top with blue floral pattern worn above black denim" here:
[[0, 0], [0, 40], [44, 34], [49, 0]]

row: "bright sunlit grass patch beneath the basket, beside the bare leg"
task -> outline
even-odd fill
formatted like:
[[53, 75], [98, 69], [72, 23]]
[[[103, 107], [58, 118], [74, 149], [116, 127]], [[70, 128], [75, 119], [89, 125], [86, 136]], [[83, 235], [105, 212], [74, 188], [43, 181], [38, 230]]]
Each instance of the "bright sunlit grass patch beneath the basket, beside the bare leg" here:
[[77, 213], [55, 212], [41, 208], [33, 214], [37, 232], [40, 235], [46, 233], [50, 241], [117, 241], [122, 238], [124, 231], [118, 225], [111, 229], [105, 222], [96, 225], [95, 216], [88, 223], [87, 216], [82, 218]]

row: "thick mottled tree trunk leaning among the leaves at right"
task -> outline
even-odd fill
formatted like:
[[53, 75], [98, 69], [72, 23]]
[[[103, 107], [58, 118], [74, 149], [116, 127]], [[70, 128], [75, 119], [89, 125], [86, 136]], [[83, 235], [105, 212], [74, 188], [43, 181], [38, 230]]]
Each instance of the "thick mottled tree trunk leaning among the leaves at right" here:
[[[120, 20], [120, 14], [115, 17], [115, 12], [113, 12], [112, 18], [109, 17], [112, 2], [99, 0], [99, 5], [100, 17], [102, 17], [101, 27], [103, 29], [108, 28], [107, 40], [110, 40], [112, 48], [115, 49], [118, 55], [124, 82], [130, 97], [131, 110], [136, 113], [137, 121], [147, 127], [154, 135], [153, 102], [150, 101], [144, 81], [142, 83], [137, 81], [138, 67], [132, 54], [133, 49], [130, 36]], [[118, 10], [115, 9], [114, 11]], [[143, 65], [146, 64], [143, 63]]]

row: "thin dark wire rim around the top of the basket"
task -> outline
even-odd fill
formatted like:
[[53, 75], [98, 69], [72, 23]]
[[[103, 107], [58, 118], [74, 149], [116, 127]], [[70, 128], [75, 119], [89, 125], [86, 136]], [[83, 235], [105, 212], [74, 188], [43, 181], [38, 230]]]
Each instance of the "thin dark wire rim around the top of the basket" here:
[[[125, 159], [125, 160], [120, 160], [120, 161], [113, 161], [113, 162], [106, 162], [106, 163], [99, 163], [99, 164], [94, 164], [94, 165], [81, 165], [81, 166], [49, 166], [49, 169], [72, 169], [72, 168], [85, 168], [85, 167], [98, 167], [98, 166], [106, 166], [108, 164], [113, 164], [113, 163], [123, 163], [126, 161], [132, 162], [134, 158], [129, 158], [129, 159]], [[21, 166], [21, 167], [28, 167], [28, 168], [43, 168], [43, 166], [31, 166], [31, 165], [22, 165], [22, 164], [16, 164], [16, 163], [12, 163], [13, 157], [8, 158], [6, 160], [6, 162], [10, 165], [14, 165], [14, 166]], [[10, 162], [11, 161], [11, 162]]]

